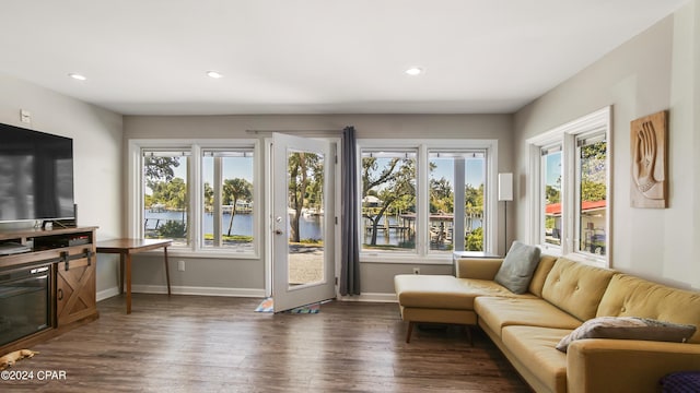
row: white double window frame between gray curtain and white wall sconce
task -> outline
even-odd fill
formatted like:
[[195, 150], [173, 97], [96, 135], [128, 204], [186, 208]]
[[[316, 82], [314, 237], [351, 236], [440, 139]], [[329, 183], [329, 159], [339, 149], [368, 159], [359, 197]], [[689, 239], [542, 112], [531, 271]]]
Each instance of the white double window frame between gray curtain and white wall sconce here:
[[[439, 150], [482, 150], [486, 151], [486, 184], [483, 195], [483, 251], [494, 253], [498, 245], [498, 140], [388, 140], [388, 139], [359, 139], [358, 163], [362, 163], [363, 150], [387, 151], [412, 148], [416, 150], [416, 252], [382, 252], [360, 250], [362, 262], [378, 263], [421, 263], [421, 264], [452, 264], [452, 253], [430, 252], [428, 243], [428, 221], [430, 216], [429, 203], [429, 151]], [[362, 166], [358, 166], [358, 200], [362, 199]], [[362, 209], [358, 209], [358, 219], [362, 222]], [[359, 229], [361, 230], [361, 228]], [[362, 238], [362, 233], [359, 234]]]

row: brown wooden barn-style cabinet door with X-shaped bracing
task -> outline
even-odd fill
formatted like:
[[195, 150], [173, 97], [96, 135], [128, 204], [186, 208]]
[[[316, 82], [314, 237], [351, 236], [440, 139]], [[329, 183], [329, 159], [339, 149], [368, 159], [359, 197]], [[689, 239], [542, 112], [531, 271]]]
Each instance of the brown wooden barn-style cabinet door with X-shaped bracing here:
[[58, 326], [96, 313], [95, 296], [96, 257], [86, 249], [89, 257], [57, 263], [56, 320]]

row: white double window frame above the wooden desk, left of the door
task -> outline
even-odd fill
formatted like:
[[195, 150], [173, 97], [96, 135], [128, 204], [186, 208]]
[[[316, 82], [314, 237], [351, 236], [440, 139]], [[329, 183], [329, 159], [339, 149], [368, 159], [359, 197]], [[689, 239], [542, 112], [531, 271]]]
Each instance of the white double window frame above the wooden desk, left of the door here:
[[[203, 213], [203, 178], [201, 158], [203, 150], [222, 148], [250, 148], [254, 151], [254, 189], [253, 214], [256, 217], [253, 224], [253, 251], [238, 251], [233, 248], [203, 247], [201, 236], [201, 217]], [[259, 148], [259, 141], [255, 139], [229, 139], [229, 140], [159, 140], [159, 139], [133, 139], [128, 141], [127, 151], [127, 234], [131, 238], [143, 237], [143, 179], [142, 179], [142, 154], [143, 148], [164, 150], [187, 150], [190, 152], [187, 171], [189, 212], [189, 245], [173, 246], [171, 252], [177, 257], [200, 257], [200, 258], [235, 258], [235, 259], [259, 259], [261, 243], [261, 227], [259, 217], [262, 216], [264, 203], [261, 192], [262, 179], [262, 154]]]

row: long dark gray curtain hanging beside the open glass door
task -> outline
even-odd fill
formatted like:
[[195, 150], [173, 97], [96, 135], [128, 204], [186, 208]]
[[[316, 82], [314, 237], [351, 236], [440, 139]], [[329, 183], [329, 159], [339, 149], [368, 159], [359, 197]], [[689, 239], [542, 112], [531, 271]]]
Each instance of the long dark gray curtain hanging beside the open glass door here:
[[360, 295], [358, 155], [354, 127], [342, 130], [340, 295]]

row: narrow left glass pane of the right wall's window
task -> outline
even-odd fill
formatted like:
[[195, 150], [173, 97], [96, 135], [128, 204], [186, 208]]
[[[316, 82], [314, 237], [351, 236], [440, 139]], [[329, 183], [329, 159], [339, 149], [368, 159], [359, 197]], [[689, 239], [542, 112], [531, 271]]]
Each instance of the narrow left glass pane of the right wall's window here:
[[561, 147], [542, 148], [545, 243], [561, 245]]

